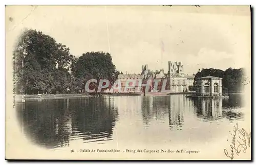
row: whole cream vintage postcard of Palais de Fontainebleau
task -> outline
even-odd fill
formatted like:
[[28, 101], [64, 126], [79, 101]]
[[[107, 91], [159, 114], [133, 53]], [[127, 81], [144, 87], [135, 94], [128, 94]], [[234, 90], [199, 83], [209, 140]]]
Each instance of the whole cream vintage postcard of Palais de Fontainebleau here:
[[251, 160], [250, 6], [6, 6], [6, 159]]

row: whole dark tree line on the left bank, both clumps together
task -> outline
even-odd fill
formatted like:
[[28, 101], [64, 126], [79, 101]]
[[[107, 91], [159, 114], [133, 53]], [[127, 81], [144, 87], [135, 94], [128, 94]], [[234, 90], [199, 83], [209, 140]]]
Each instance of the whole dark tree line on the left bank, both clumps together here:
[[[50, 35], [33, 29], [19, 36], [13, 51], [17, 94], [83, 93], [89, 79], [108, 79], [111, 85], [119, 72], [110, 53], [86, 52], [79, 57]], [[96, 88], [97, 83], [91, 83]]]

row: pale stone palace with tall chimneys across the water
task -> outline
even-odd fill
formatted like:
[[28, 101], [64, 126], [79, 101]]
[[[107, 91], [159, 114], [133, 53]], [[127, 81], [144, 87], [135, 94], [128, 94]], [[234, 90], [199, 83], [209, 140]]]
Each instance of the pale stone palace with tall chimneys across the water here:
[[[187, 75], [184, 72], [184, 65], [181, 62], [168, 62], [168, 72], [164, 69], [151, 70], [148, 65], [142, 66], [141, 74], [120, 74], [118, 79], [121, 81], [121, 91], [111, 90], [110, 92], [143, 92], [141, 83], [149, 82], [149, 92], [160, 92], [162, 89], [168, 92], [189, 91], [189, 86], [193, 86], [195, 75]], [[134, 80], [135, 87], [125, 88], [127, 80]], [[157, 85], [154, 83], [157, 82]], [[132, 85], [132, 82], [130, 82]], [[164, 87], [163, 87], [164, 86]]]

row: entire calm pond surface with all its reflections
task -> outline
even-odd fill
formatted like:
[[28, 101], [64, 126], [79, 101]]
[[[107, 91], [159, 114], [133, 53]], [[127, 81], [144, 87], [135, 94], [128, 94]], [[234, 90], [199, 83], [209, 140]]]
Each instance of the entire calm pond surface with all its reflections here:
[[27, 101], [16, 109], [20, 129], [32, 143], [58, 149], [72, 144], [208, 143], [243, 120], [242, 102], [239, 94], [198, 100], [133, 96]]

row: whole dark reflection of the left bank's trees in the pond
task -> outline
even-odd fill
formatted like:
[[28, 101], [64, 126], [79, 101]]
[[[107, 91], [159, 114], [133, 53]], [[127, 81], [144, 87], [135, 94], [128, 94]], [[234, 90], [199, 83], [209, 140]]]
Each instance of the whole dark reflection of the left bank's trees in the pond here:
[[44, 100], [17, 104], [23, 132], [47, 148], [69, 146], [71, 140], [110, 140], [118, 111], [104, 99]]

